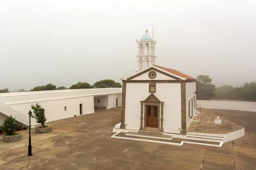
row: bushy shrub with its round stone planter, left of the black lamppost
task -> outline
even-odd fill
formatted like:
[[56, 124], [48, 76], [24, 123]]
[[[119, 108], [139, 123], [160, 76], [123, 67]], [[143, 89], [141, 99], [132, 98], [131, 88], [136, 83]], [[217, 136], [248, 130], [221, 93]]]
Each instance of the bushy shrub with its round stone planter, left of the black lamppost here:
[[7, 116], [3, 122], [6, 134], [3, 136], [3, 142], [17, 142], [22, 139], [21, 133], [15, 133], [15, 127], [17, 124], [14, 123], [15, 118]]

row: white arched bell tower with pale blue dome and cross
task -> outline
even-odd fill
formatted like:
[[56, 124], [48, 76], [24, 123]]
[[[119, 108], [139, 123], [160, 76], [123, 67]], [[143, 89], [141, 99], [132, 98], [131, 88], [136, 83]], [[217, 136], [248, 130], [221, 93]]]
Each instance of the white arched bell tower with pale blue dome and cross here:
[[152, 38], [148, 35], [147, 29], [145, 32], [146, 34], [141, 37], [140, 41], [136, 39], [136, 42], [138, 43], [138, 54], [136, 55], [139, 69], [138, 71], [153, 65], [157, 57], [155, 56], [155, 44], [157, 41], [152, 40]]

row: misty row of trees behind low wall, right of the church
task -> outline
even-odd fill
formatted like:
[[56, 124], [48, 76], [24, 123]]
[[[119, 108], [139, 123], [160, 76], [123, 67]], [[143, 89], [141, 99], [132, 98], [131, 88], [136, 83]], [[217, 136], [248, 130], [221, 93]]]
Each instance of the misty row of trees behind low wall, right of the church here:
[[232, 87], [223, 85], [216, 88], [212, 85], [212, 79], [209, 75], [200, 75], [197, 77], [196, 91], [197, 99], [227, 99], [227, 100], [247, 100], [256, 101], [256, 82], [246, 82], [241, 87]]

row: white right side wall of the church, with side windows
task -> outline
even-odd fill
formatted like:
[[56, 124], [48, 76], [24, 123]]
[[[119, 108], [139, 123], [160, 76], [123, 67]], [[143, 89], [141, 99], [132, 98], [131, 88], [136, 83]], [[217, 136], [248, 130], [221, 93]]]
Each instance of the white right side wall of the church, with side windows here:
[[[188, 128], [190, 123], [192, 122], [192, 119], [189, 118], [189, 99], [195, 95], [196, 91], [196, 84], [195, 82], [187, 82], [186, 83], [186, 127]], [[196, 101], [196, 98], [195, 98]], [[193, 110], [193, 117], [195, 116], [195, 113], [197, 112], [196, 107], [194, 108], [194, 100], [193, 105], [192, 101], [190, 101], [190, 116], [192, 116], [192, 110]]]

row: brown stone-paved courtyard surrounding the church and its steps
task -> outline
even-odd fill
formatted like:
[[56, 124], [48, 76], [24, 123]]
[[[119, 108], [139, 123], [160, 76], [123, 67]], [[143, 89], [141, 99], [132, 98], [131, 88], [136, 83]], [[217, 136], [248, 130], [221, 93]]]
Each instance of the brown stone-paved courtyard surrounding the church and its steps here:
[[256, 170], [256, 113], [207, 111], [244, 126], [246, 135], [221, 148], [114, 139], [121, 108], [102, 109], [49, 122], [52, 133], [32, 129], [33, 156], [27, 156], [28, 130], [20, 142], [0, 141], [0, 170]]

